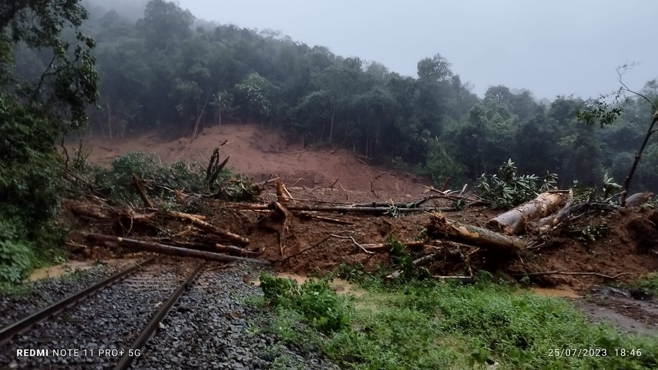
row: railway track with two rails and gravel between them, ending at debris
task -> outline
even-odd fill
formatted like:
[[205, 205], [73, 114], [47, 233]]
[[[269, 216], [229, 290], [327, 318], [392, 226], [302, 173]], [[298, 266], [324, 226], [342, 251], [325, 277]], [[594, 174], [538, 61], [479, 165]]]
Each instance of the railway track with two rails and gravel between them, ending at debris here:
[[0, 329], [0, 369], [129, 369], [205, 266], [153, 262]]

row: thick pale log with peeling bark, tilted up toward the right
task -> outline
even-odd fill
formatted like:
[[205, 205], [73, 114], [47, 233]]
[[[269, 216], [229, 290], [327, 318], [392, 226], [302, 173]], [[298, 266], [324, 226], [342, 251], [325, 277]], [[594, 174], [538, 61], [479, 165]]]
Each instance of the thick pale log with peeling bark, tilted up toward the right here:
[[542, 193], [537, 198], [494, 217], [487, 225], [508, 235], [519, 234], [523, 231], [526, 221], [550, 215], [557, 211], [566, 199], [564, 193]]

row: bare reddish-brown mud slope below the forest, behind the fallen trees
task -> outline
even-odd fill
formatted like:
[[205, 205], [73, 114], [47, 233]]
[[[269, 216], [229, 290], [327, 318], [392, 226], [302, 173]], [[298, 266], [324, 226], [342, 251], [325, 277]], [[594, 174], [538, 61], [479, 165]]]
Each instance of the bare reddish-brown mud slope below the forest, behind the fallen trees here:
[[339, 180], [340, 185], [348, 190], [368, 191], [370, 182], [377, 191], [418, 194], [423, 190], [424, 180], [411, 174], [374, 168], [345, 150], [305, 150], [301, 149], [301, 145], [288, 145], [282, 134], [270, 133], [266, 128], [255, 125], [205, 128], [193, 142], [187, 138], [168, 141], [157, 134], [147, 134], [114, 143], [105, 139], [84, 138], [83, 146], [91, 149], [90, 161], [105, 165], [117, 155], [130, 151], [157, 153], [167, 163], [178, 159], [206, 162], [213, 149], [224, 140], [230, 142], [221, 151], [222, 158], [231, 156], [229, 167], [256, 181], [265, 180], [274, 173], [288, 184], [303, 178], [297, 186], [329, 187]]

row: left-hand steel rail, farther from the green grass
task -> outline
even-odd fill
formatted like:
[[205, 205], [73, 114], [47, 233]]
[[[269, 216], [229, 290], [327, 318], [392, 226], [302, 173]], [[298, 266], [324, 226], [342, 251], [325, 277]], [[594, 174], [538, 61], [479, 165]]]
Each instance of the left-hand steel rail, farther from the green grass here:
[[7, 327], [0, 329], [0, 344], [7, 344], [7, 342], [9, 342], [9, 340], [11, 340], [11, 338], [13, 338], [14, 335], [22, 332], [25, 329], [32, 327], [32, 325], [39, 323], [40, 321], [47, 319], [51, 315], [60, 311], [61, 309], [64, 309], [69, 305], [75, 304], [76, 302], [80, 302], [80, 300], [83, 300], [84, 298], [89, 296], [89, 294], [93, 292], [97, 292], [102, 288], [105, 288], [105, 286], [108, 286], [113, 282], [116, 282], [116, 280], [119, 280], [120, 278], [126, 277], [134, 273], [138, 269], [141, 269], [143, 265], [148, 265], [153, 261], [155, 261], [155, 258], [147, 259], [146, 261], [143, 261], [141, 263], [136, 263], [136, 265], [134, 265], [133, 267], [125, 269], [124, 271], [120, 271], [109, 278], [105, 278], [104, 280], [101, 280], [96, 284], [93, 284], [91, 286], [88, 286], [87, 288], [84, 288], [83, 290], [80, 290], [80, 292], [68, 296], [68, 298], [64, 298], [59, 302], [55, 302], [54, 304], [49, 305], [44, 309], [41, 309], [41, 311], [35, 312], [32, 315], [29, 315], [24, 319], [16, 321], [11, 325], [7, 325]]

